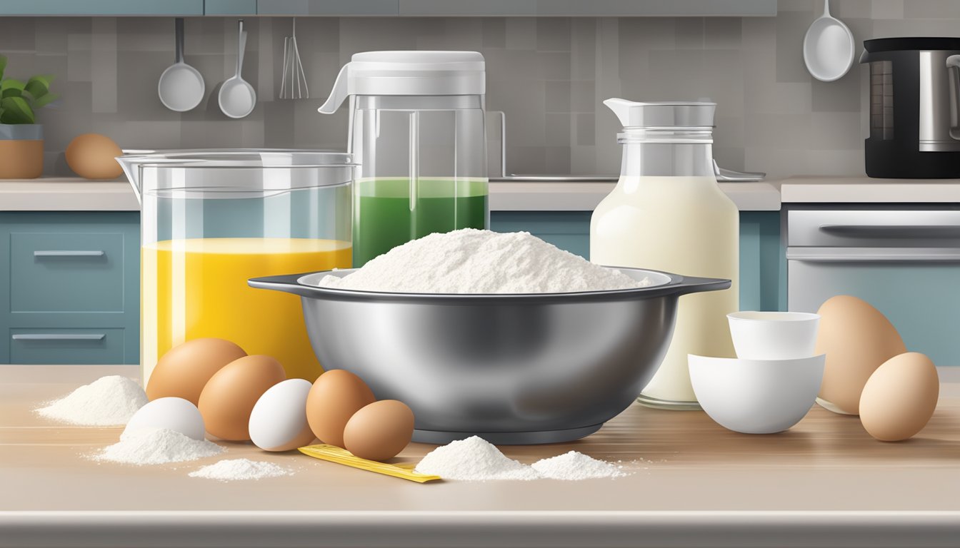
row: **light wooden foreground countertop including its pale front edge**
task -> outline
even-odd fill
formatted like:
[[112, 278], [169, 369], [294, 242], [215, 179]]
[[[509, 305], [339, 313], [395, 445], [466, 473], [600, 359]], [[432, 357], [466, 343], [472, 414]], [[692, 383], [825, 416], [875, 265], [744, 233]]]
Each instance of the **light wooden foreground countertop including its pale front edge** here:
[[[0, 366], [0, 546], [957, 546], [960, 368], [941, 370], [936, 414], [910, 441], [875, 441], [816, 406], [771, 436], [634, 406], [583, 441], [501, 447], [527, 463], [576, 449], [622, 461], [626, 478], [420, 485], [243, 443], [195, 463], [91, 462], [120, 428], [31, 410], [138, 369]], [[430, 449], [411, 444], [399, 460]], [[187, 476], [240, 457], [296, 475]]]

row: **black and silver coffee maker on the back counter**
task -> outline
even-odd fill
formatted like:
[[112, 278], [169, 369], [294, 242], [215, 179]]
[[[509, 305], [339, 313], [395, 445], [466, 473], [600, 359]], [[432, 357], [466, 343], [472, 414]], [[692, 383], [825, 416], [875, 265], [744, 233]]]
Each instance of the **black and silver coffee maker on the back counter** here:
[[876, 38], [870, 63], [867, 175], [960, 178], [960, 37]]

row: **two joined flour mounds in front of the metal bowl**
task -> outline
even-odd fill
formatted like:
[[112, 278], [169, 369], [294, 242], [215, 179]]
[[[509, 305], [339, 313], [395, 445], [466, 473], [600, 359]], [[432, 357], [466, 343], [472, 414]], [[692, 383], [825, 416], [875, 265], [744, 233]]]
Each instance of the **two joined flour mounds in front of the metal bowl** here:
[[598, 461], [583, 453], [569, 451], [540, 460], [533, 465], [515, 461], [491, 442], [477, 436], [451, 441], [423, 457], [416, 471], [444, 480], [485, 482], [491, 480], [589, 480], [626, 476], [622, 465]]

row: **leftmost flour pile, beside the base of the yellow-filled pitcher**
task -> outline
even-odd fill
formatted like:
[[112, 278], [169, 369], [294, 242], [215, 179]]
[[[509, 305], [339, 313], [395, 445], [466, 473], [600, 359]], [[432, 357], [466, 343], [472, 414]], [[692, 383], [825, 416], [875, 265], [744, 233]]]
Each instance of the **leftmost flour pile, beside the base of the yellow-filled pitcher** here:
[[147, 403], [147, 394], [127, 377], [109, 375], [84, 385], [36, 410], [47, 417], [82, 426], [127, 424]]

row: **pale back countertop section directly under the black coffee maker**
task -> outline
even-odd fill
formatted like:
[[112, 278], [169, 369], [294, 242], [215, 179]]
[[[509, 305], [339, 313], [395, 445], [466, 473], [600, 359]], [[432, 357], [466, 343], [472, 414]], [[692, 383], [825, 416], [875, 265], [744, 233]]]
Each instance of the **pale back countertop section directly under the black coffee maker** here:
[[791, 177], [782, 203], [960, 203], [960, 179]]

